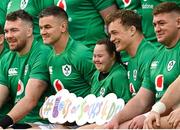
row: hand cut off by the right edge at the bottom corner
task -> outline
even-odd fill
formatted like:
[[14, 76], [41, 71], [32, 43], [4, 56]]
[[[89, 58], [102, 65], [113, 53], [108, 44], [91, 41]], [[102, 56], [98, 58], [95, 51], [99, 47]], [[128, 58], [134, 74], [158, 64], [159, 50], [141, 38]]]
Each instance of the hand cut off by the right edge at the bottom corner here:
[[172, 111], [167, 119], [168, 123], [173, 127], [173, 129], [180, 126], [180, 108]]

